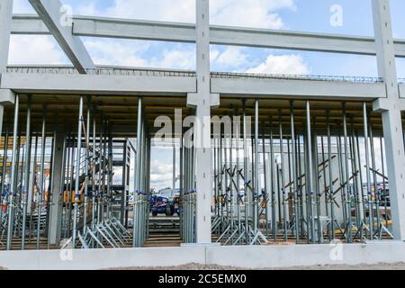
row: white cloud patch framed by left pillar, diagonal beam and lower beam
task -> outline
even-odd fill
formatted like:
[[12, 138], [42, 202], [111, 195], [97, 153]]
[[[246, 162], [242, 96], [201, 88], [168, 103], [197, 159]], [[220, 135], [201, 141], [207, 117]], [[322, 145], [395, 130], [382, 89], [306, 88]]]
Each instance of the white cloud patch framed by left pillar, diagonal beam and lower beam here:
[[50, 36], [12, 35], [9, 64], [63, 64], [65, 54]]

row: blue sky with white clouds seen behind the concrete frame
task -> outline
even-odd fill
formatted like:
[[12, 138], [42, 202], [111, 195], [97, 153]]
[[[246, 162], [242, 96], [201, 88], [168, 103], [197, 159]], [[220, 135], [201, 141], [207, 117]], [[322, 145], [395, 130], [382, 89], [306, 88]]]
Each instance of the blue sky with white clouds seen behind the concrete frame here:
[[[74, 14], [194, 23], [195, 0], [62, 0]], [[333, 5], [343, 25], [330, 24]], [[394, 36], [405, 39], [405, 1], [391, 0]], [[34, 13], [28, 0], [14, 0], [14, 13]], [[211, 23], [291, 31], [373, 36], [371, 0], [211, 0]], [[144, 40], [83, 38], [94, 63], [132, 67], [193, 69], [195, 45]], [[48, 36], [12, 36], [10, 64], [69, 64]], [[377, 76], [374, 57], [305, 51], [211, 46], [215, 71]], [[405, 60], [398, 59], [405, 77]], [[171, 153], [152, 159], [157, 187], [171, 186]]]

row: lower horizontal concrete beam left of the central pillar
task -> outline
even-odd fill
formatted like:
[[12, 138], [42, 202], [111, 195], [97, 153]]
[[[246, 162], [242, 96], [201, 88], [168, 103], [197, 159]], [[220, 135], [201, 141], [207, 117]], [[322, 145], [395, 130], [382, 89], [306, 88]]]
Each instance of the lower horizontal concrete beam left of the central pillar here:
[[35, 94], [187, 94], [196, 91], [193, 76], [100, 76], [4, 73], [1, 88]]

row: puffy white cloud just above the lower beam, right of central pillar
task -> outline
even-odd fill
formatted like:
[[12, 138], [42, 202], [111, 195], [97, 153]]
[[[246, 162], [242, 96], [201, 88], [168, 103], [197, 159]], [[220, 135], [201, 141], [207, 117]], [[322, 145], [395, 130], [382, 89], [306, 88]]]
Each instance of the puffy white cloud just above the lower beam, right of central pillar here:
[[269, 55], [266, 61], [247, 69], [247, 73], [265, 74], [309, 74], [310, 67], [300, 55]]

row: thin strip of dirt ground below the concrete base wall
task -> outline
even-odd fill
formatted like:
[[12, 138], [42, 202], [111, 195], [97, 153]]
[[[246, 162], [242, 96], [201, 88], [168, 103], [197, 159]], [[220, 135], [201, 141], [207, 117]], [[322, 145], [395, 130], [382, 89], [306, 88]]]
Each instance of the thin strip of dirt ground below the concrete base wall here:
[[[112, 270], [246, 270], [243, 267], [232, 266], [205, 266], [200, 264], [188, 264], [184, 266], [170, 267], [129, 267], [117, 268]], [[288, 268], [276, 269], [261, 269], [261, 270], [405, 270], [405, 263], [396, 264], [378, 264], [378, 265], [359, 265], [359, 266], [297, 266]]]

